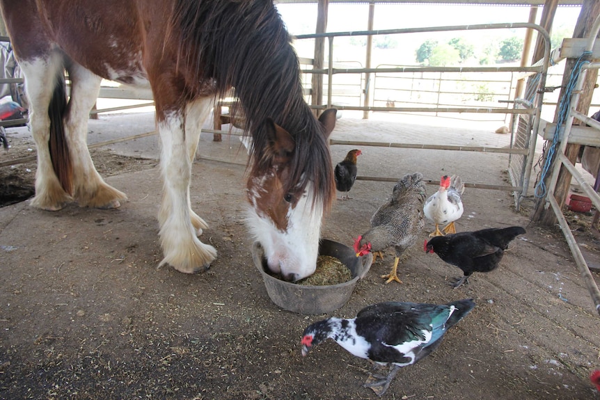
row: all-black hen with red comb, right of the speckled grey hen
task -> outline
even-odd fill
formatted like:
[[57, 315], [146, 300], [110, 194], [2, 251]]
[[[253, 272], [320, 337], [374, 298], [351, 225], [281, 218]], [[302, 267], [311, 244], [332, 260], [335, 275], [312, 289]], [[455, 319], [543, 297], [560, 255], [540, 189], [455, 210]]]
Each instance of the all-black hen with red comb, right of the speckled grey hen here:
[[475, 232], [459, 232], [425, 241], [425, 252], [436, 253], [448, 264], [459, 267], [464, 276], [457, 280], [455, 289], [473, 272], [496, 269], [508, 243], [519, 234], [526, 233], [520, 226], [489, 228]]

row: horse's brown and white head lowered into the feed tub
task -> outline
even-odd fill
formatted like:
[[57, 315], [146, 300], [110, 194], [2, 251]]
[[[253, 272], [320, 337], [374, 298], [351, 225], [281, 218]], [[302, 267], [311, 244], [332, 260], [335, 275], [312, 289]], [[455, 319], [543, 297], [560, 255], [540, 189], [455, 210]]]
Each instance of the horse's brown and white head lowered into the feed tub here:
[[[260, 160], [253, 162], [261, 167], [254, 166], [248, 178], [248, 226], [265, 249], [269, 269], [292, 282], [315, 272], [322, 216], [335, 195], [327, 144], [335, 110], [322, 113], [319, 122], [313, 140], [297, 143], [267, 120], [266, 144], [254, 152]], [[304, 145], [309, 148], [300, 150]]]

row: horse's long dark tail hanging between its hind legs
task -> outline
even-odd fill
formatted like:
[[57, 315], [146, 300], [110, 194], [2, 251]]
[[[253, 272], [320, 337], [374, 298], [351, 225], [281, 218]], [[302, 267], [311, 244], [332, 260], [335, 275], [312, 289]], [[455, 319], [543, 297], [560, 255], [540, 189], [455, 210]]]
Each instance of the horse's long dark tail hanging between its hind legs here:
[[73, 168], [67, 138], [65, 137], [64, 116], [67, 111], [67, 89], [65, 75], [61, 71], [56, 76], [56, 84], [52, 92], [52, 99], [48, 106], [50, 117], [50, 139], [49, 149], [52, 159], [52, 168], [61, 182], [63, 190], [69, 194], [73, 193]]

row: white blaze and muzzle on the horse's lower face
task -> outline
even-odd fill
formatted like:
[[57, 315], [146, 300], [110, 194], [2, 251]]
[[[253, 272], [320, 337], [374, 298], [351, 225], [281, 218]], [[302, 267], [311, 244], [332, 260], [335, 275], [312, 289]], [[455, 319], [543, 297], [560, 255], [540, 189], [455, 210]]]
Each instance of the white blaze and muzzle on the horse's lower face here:
[[[260, 187], [253, 185], [253, 187]], [[313, 207], [313, 185], [308, 184], [296, 207], [287, 211], [287, 228], [280, 230], [273, 221], [257, 209], [260, 193], [248, 194], [251, 208], [248, 227], [265, 249], [269, 269], [286, 278], [299, 280], [315, 272], [319, 252], [319, 234], [323, 216], [322, 205]]]

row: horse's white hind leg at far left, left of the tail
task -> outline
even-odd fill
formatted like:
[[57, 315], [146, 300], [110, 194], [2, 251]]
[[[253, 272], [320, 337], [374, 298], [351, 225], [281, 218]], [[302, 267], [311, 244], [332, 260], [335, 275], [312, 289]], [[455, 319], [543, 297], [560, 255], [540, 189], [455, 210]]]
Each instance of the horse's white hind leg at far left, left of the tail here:
[[47, 59], [36, 58], [22, 61], [19, 65], [27, 82], [29, 99], [29, 125], [38, 152], [38, 168], [35, 172], [35, 196], [33, 207], [56, 211], [62, 209], [72, 198], [61, 186], [50, 156], [50, 118], [48, 106], [56, 84], [56, 75], [63, 70], [63, 62], [58, 54]]

